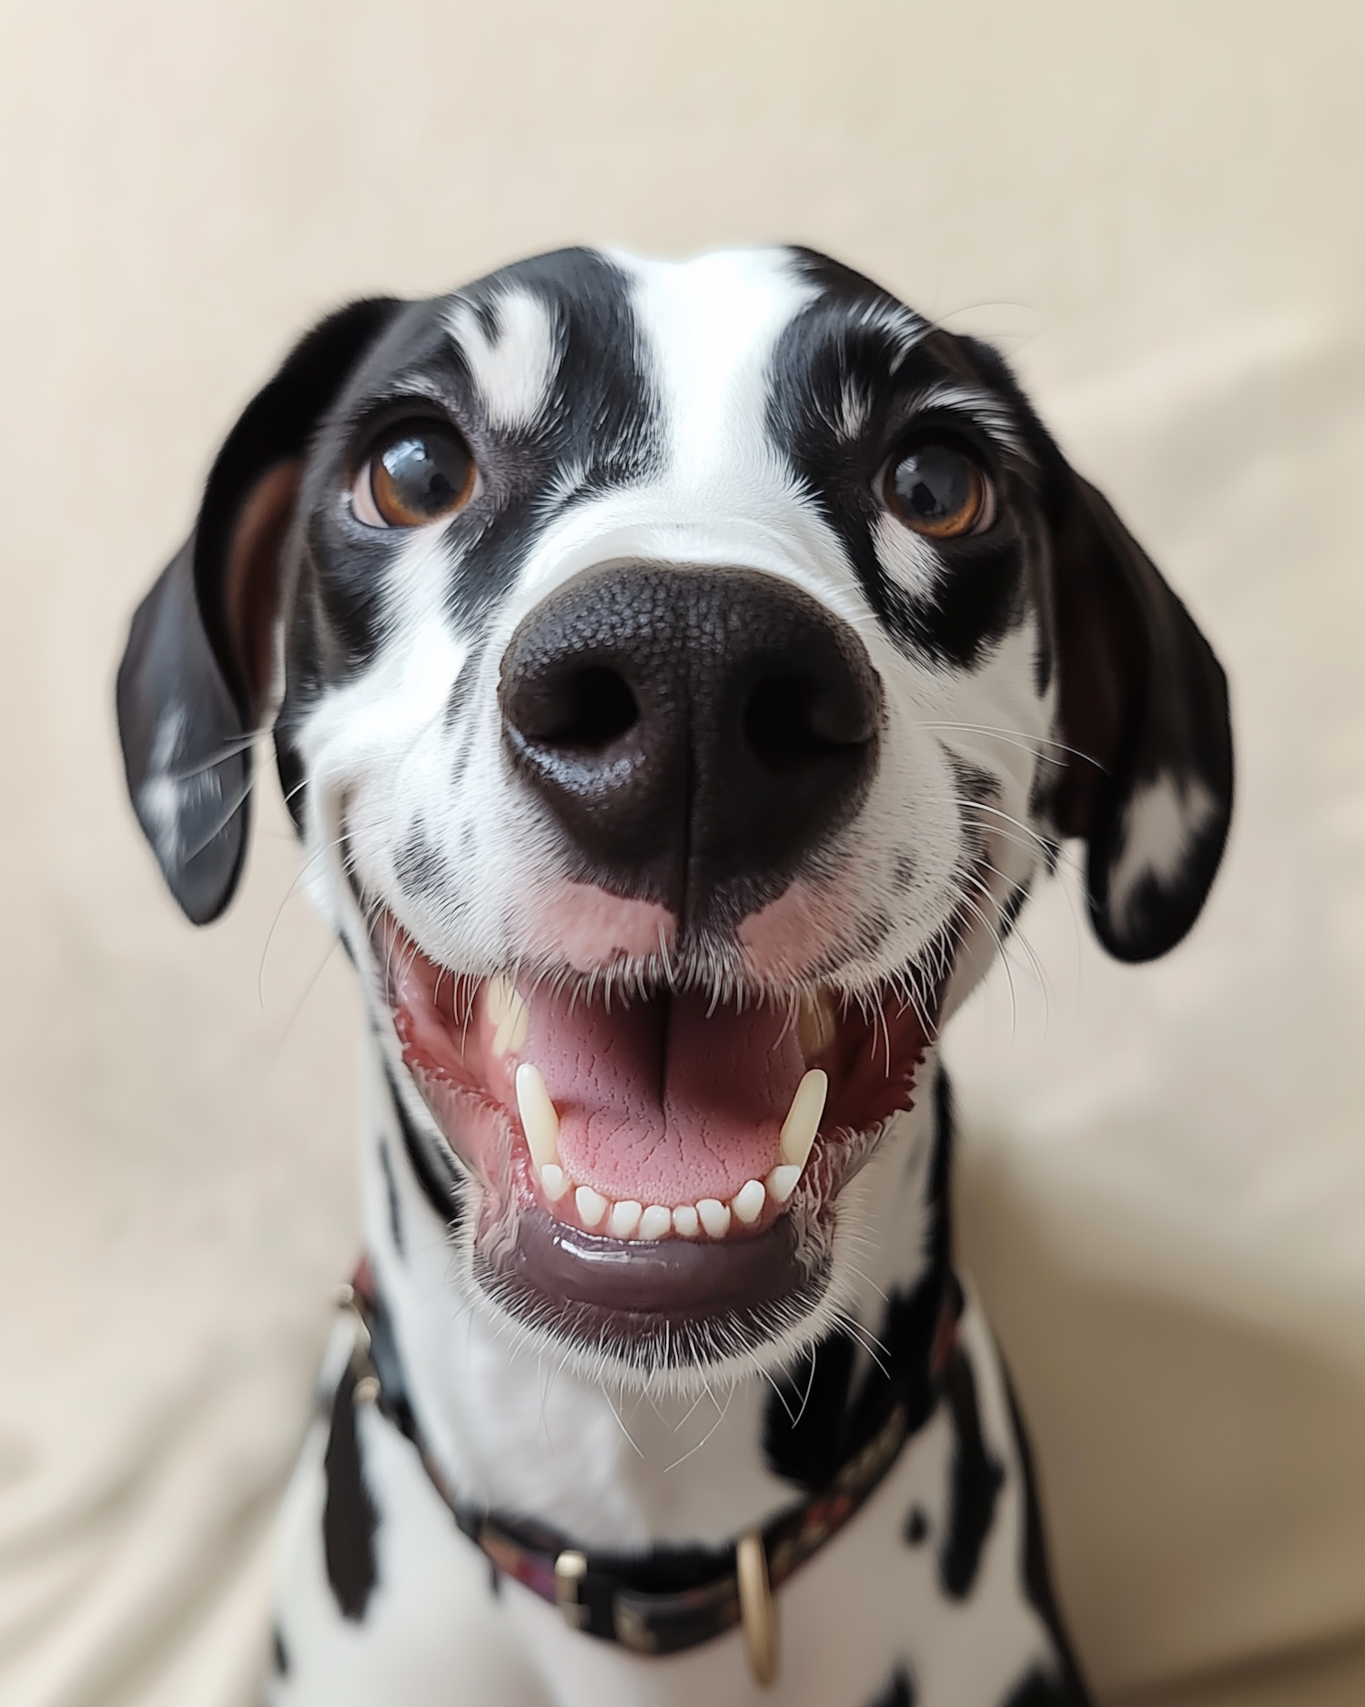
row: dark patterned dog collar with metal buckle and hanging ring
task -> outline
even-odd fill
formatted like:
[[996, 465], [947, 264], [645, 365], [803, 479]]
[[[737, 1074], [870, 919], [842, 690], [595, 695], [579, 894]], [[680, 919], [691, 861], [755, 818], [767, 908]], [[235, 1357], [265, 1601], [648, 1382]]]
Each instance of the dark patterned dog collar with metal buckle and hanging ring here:
[[[677, 1654], [742, 1623], [754, 1681], [764, 1687], [778, 1673], [775, 1589], [862, 1509], [925, 1420], [923, 1408], [911, 1407], [892, 1388], [882, 1413], [862, 1430], [826, 1487], [722, 1547], [589, 1550], [549, 1524], [490, 1511], [456, 1494], [413, 1415], [398, 1342], [369, 1258], [351, 1285], [341, 1287], [340, 1304], [355, 1321], [348, 1371], [355, 1398], [375, 1403], [411, 1441], [437, 1494], [495, 1570], [558, 1606], [570, 1628], [635, 1654]], [[935, 1388], [957, 1350], [959, 1314], [961, 1292], [945, 1275], [928, 1350]]]

